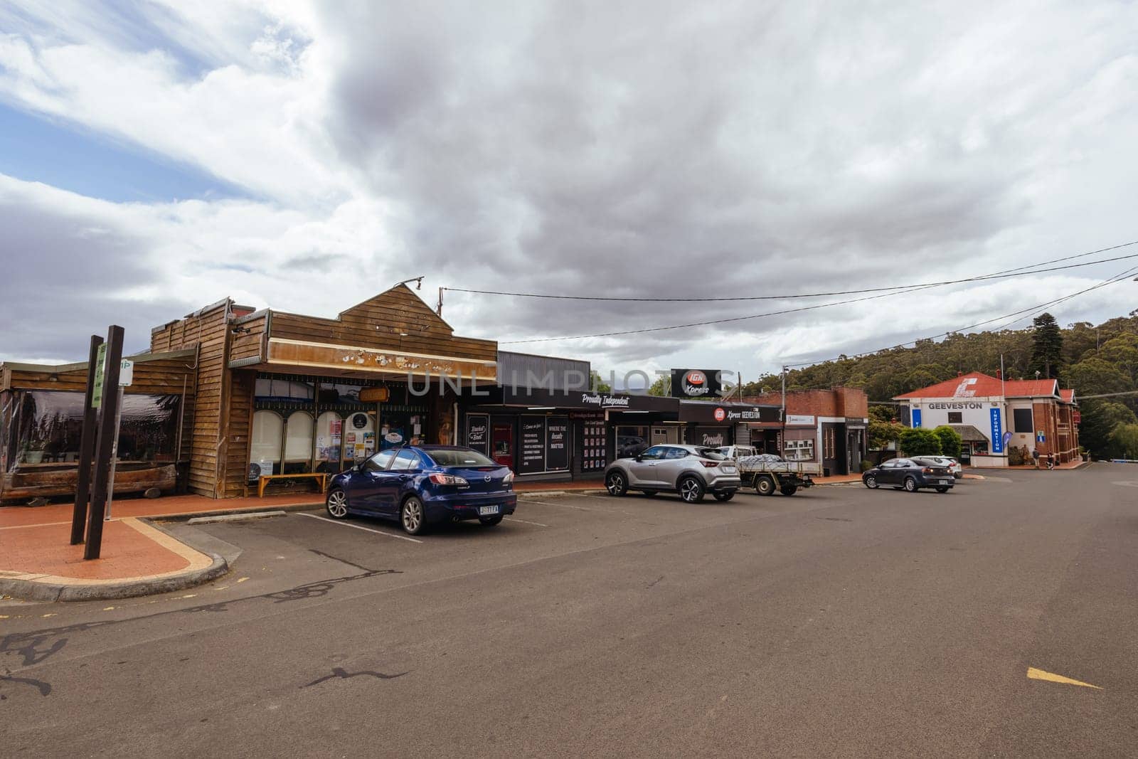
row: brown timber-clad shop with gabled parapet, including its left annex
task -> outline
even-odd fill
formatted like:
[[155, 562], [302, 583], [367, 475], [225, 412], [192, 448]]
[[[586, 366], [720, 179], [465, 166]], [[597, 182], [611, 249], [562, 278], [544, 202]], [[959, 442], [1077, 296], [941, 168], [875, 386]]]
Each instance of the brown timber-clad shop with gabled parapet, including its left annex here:
[[[178, 396], [171, 463], [179, 464], [179, 489], [223, 498], [246, 494], [261, 475], [336, 472], [405, 442], [455, 442], [459, 388], [495, 383], [497, 343], [456, 337], [410, 288], [397, 284], [335, 319], [218, 300], [155, 328], [149, 354], [134, 361], [171, 357], [184, 366], [181, 372], [166, 366], [146, 385], [138, 383], [135, 369], [131, 393]], [[14, 403], [14, 393], [42, 389], [31, 377], [42, 376], [35, 381], [46, 383], [63, 382], [50, 377], [65, 374], [66, 389], [79, 394], [82, 407], [85, 363], [0, 366], [2, 407]], [[27, 460], [35, 455], [20, 456], [26, 438], [8, 416], [0, 429], [9, 443], [0, 448], [6, 488], [0, 498], [25, 497], [24, 476], [44, 462], [33, 465]], [[61, 470], [69, 463], [72, 481], [69, 490], [52, 494], [73, 493], [74, 460], [51, 463]], [[174, 489], [174, 484], [150, 487]]]

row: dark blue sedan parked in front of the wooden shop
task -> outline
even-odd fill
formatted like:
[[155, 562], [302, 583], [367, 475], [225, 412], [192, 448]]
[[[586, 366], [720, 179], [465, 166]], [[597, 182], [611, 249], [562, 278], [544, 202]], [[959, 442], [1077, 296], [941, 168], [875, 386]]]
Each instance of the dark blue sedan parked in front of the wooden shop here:
[[497, 525], [518, 505], [513, 472], [471, 448], [445, 445], [380, 451], [332, 478], [328, 515], [397, 519], [419, 535], [438, 522]]

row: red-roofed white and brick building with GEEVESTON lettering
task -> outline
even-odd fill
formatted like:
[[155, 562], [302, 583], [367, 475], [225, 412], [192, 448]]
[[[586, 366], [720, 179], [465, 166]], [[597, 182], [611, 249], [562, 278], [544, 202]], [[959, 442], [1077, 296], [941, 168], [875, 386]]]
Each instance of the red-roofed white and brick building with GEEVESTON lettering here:
[[959, 432], [962, 457], [973, 467], [1007, 467], [1011, 446], [1052, 453], [1057, 463], [1079, 456], [1074, 390], [1053, 379], [1001, 381], [971, 372], [893, 399], [905, 404], [910, 427], [948, 424]]

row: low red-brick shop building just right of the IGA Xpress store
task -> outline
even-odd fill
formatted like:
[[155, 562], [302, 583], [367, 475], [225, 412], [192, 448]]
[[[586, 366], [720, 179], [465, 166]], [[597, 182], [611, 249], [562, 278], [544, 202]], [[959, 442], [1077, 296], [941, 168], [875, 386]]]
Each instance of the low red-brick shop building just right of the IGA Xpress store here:
[[[782, 393], [744, 398], [747, 403], [777, 405]], [[869, 401], [856, 387], [793, 390], [786, 394], [783, 423], [752, 423], [751, 445], [793, 461], [820, 463], [826, 475], [860, 471], [866, 454]]]

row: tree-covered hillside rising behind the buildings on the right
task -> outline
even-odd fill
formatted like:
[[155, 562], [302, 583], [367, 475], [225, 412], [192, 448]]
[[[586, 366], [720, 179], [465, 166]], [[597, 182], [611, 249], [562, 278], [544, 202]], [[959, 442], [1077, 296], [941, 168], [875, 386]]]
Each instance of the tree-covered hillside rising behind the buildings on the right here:
[[[1085, 397], [1138, 389], [1138, 311], [1097, 327], [1078, 322], [1049, 331], [1047, 320], [1036, 322], [1031, 329], [951, 335], [940, 341], [918, 341], [912, 348], [791, 370], [786, 388], [846, 385], [865, 389], [871, 402], [888, 401], [964, 372], [996, 376], [1003, 354], [1008, 379], [1033, 379], [1039, 370], [1040, 377], [1056, 377], [1059, 387], [1074, 388], [1085, 448], [1099, 457], [1138, 459], [1138, 395]], [[1050, 361], [1049, 355], [1054, 356]], [[748, 383], [743, 394], [780, 387], [781, 378], [768, 374]]]

